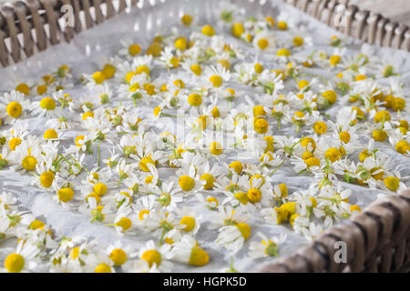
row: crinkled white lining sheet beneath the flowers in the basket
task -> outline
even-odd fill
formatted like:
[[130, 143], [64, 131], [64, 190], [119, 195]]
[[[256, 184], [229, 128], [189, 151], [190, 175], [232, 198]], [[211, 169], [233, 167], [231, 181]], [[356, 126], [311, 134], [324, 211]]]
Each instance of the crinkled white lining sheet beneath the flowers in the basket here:
[[[143, 5], [141, 5], [143, 3]], [[308, 15], [303, 15], [300, 11], [290, 5], [283, 5], [280, 1], [263, 2], [264, 5], [259, 3], [250, 3], [248, 1], [235, 1], [235, 3], [242, 3], [244, 11], [247, 15], [278, 15], [279, 11], [286, 10], [292, 15], [298, 15], [298, 18], [304, 22], [309, 30], [310, 35], [313, 36], [313, 44], [315, 49], [323, 49], [328, 53], [333, 52], [333, 47], [327, 45], [330, 35], [339, 35], [333, 29], [323, 25], [317, 20]], [[179, 24], [179, 17], [183, 13], [190, 13], [195, 18], [200, 18], [199, 22], [202, 24], [213, 23], [212, 20], [219, 19], [220, 13], [216, 10], [218, 7], [218, 1], [181, 1], [172, 0], [166, 2], [159, 2], [155, 5], [151, 5], [148, 1], [140, 1], [138, 7], [134, 7], [128, 14], [122, 14], [115, 16], [109, 21], [97, 25], [97, 27], [89, 29], [72, 41], [71, 44], [61, 44], [50, 47], [46, 52], [39, 53], [25, 62], [14, 65], [8, 68], [0, 69], [0, 76], [2, 82], [0, 83], [1, 91], [9, 91], [13, 87], [10, 86], [10, 82], [17, 79], [38, 79], [39, 76], [45, 75], [50, 71], [53, 71], [62, 64], [67, 64], [72, 68], [72, 73], [75, 79], [83, 74], [92, 74], [96, 71], [96, 61], [100, 55], [113, 55], [118, 51], [119, 39], [126, 36], [132, 36], [137, 39], [143, 46], [147, 47], [152, 40], [152, 37], [156, 33], [165, 34], [169, 32], [169, 27]], [[180, 27], [180, 25], [179, 25]], [[181, 28], [179, 28], [181, 29]], [[183, 29], [183, 28], [182, 28]], [[130, 33], [132, 30], [132, 34]], [[188, 31], [181, 31], [181, 33], [187, 33]], [[228, 41], [237, 42], [233, 37], [227, 35]], [[346, 36], [343, 36], [347, 39]], [[349, 40], [352, 45], [348, 46], [348, 53], [357, 53], [360, 50], [361, 43], [354, 40]], [[244, 46], [244, 45], [242, 45]], [[249, 48], [243, 47], [244, 50]], [[408, 53], [399, 52], [392, 49], [378, 49], [378, 53], [392, 54], [397, 57], [401, 57], [404, 60], [404, 65], [399, 69], [399, 73], [402, 75], [402, 80], [406, 86], [410, 86], [410, 57]], [[254, 55], [254, 53], [253, 53]], [[264, 62], [269, 61], [269, 58], [264, 59], [264, 55], [261, 55]], [[313, 73], [321, 74], [320, 70], [317, 72], [312, 70]], [[322, 72], [323, 74], [323, 72]], [[328, 77], [328, 76], [327, 76]], [[82, 90], [87, 90], [85, 86], [75, 86], [68, 90], [68, 94], [73, 96], [83, 95]], [[250, 90], [250, 89], [248, 89]], [[284, 90], [286, 91], [286, 89]], [[251, 93], [251, 91], [249, 91]], [[407, 99], [407, 102], [409, 100]], [[337, 106], [333, 106], [328, 111], [330, 115], [338, 111]], [[139, 107], [139, 114], [146, 116], [147, 112], [152, 112], [152, 107]], [[165, 120], [162, 123], [157, 123], [157, 132], [174, 130], [172, 125], [169, 125], [169, 120]], [[44, 118], [30, 118], [30, 129], [33, 130], [33, 134], [42, 135], [46, 130]], [[4, 128], [3, 128], [4, 129]], [[294, 135], [294, 128], [289, 132]], [[67, 133], [67, 140], [63, 142], [63, 145], [71, 143], [75, 136], [79, 132], [72, 131]], [[364, 141], [363, 145], [366, 145], [367, 141]], [[389, 154], [395, 159], [396, 169], [399, 170], [402, 176], [410, 176], [410, 165], [408, 158], [397, 154], [393, 148], [382, 146], [381, 151]], [[101, 156], [104, 158], [108, 156], [108, 147], [102, 147]], [[95, 165], [96, 156], [87, 156], [87, 161], [92, 161]], [[231, 160], [231, 159], [230, 159]], [[289, 164], [288, 164], [289, 165]], [[87, 163], [86, 163], [87, 166]], [[169, 175], [167, 170], [159, 170], [159, 174], [162, 177]], [[31, 186], [31, 176], [22, 176], [11, 170], [0, 171], [0, 187], [2, 190], [6, 190], [15, 194], [21, 203], [22, 208], [29, 209], [35, 216], [42, 216], [46, 220], [46, 224], [52, 227], [57, 235], [61, 236], [87, 236], [95, 237], [101, 246], [108, 246], [117, 240], [122, 241], [124, 244], [132, 245], [138, 249], [145, 241], [149, 240], [149, 237], [145, 235], [138, 236], [118, 236], [115, 230], [102, 224], [92, 224], [89, 222], [89, 216], [84, 216], [75, 211], [67, 210], [58, 206], [54, 202], [49, 194], [44, 193], [41, 189]], [[313, 181], [312, 176], [297, 176], [291, 167], [282, 166], [276, 174], [273, 176], [273, 183], [286, 183], [290, 193], [298, 190], [305, 189]], [[409, 182], [403, 181], [408, 186]], [[345, 188], [353, 190], [350, 202], [356, 204], [362, 208], [369, 205], [376, 196], [382, 193], [382, 190], [371, 190], [362, 186], [354, 186], [343, 183]], [[184, 205], [194, 206], [198, 204], [195, 199], [187, 199], [183, 202]], [[204, 207], [204, 216], [207, 215], [207, 210]], [[294, 233], [289, 226], [272, 226], [264, 223], [261, 216], [251, 216], [249, 224], [252, 227], [251, 239], [249, 239], [241, 251], [236, 254], [234, 259], [234, 266], [240, 271], [252, 271], [255, 270], [261, 262], [266, 260], [252, 260], [247, 255], [248, 246], [252, 240], [259, 240], [256, 235], [258, 231], [261, 231], [268, 237], [279, 236], [282, 233], [288, 235], [288, 238], [280, 249], [281, 256], [287, 256], [292, 254], [302, 246], [305, 246], [308, 241], [302, 236]], [[181, 264], [175, 263], [173, 271], [175, 272], [219, 272], [221, 268], [229, 265], [230, 256], [227, 251], [215, 246], [213, 241], [218, 236], [217, 230], [208, 230], [207, 223], [203, 222], [199, 234], [196, 238], [200, 242], [200, 246], [204, 247], [210, 254], [210, 264], [203, 267], [187, 267]], [[4, 246], [2, 246], [4, 247]], [[5, 258], [5, 252], [0, 249], [0, 261]], [[45, 266], [42, 266], [38, 271], [46, 271]]]

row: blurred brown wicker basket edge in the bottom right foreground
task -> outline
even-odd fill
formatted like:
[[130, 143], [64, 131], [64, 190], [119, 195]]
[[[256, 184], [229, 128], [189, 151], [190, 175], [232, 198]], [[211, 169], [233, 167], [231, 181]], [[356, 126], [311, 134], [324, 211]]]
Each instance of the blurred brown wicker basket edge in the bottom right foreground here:
[[[334, 260], [335, 242], [346, 244], [347, 262]], [[309, 246], [262, 266], [261, 272], [391, 272], [410, 260], [410, 189], [377, 200], [360, 215], [323, 232]], [[301, 255], [304, 254], [304, 255]]]

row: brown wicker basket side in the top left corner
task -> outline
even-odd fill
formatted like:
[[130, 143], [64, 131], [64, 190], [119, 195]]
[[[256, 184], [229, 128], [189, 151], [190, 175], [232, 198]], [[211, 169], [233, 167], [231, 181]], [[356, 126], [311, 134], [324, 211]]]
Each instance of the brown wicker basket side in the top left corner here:
[[[19, 0], [0, 6], [0, 65], [20, 62], [43, 51], [48, 45], [70, 42], [81, 31], [124, 12], [138, 0]], [[66, 13], [63, 5], [71, 5], [74, 26], [59, 23]], [[84, 20], [82, 20], [84, 19]], [[64, 19], [66, 20], [66, 19]], [[19, 39], [22, 39], [20, 43]]]

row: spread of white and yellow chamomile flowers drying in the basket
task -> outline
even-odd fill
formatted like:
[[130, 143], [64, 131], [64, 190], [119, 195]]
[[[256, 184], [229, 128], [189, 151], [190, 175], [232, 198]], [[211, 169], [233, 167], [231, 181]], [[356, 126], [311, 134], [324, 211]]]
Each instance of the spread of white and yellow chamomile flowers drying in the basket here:
[[[369, 45], [347, 52], [337, 36], [315, 48], [285, 12], [249, 17], [225, 2], [219, 11], [212, 25], [183, 15], [148, 45], [122, 39], [92, 74], [61, 65], [0, 96], [0, 169], [118, 236], [102, 246], [57, 233], [5, 186], [0, 243], [16, 246], [2, 271], [260, 260], [279, 256], [287, 236], [259, 225], [311, 240], [361, 212], [360, 189], [406, 187], [396, 161], [410, 165], [408, 89], [397, 60]], [[133, 236], [144, 240], [122, 240]]]

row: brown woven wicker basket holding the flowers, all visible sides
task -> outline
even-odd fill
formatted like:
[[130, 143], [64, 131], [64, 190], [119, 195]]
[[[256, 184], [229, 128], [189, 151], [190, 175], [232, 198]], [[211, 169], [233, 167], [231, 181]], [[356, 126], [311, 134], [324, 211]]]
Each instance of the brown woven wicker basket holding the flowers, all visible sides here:
[[[326, 25], [364, 42], [410, 51], [410, 29], [382, 15], [348, 5], [348, 0], [284, 0]], [[138, 0], [26, 0], [0, 7], [0, 64], [12, 65], [122, 13]], [[74, 27], [64, 28], [62, 7], [74, 8]], [[117, 5], [117, 9], [115, 8]], [[334, 25], [336, 5], [346, 7], [345, 25]], [[63, 22], [62, 22], [63, 21]], [[347, 247], [346, 263], [336, 264], [334, 244]], [[364, 212], [327, 229], [309, 246], [262, 272], [391, 272], [410, 261], [410, 189], [374, 202]]]

